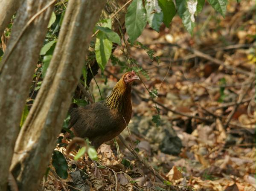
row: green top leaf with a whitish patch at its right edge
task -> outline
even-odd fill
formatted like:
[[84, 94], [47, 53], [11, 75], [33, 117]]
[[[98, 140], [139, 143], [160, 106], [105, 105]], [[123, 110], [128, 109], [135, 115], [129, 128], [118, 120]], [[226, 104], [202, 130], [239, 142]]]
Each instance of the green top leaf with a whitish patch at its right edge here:
[[194, 17], [188, 9], [188, 4], [186, 0], [176, 0], [177, 13], [182, 19], [182, 23], [187, 29], [187, 31], [192, 35], [193, 29], [195, 27], [195, 22], [192, 21]]

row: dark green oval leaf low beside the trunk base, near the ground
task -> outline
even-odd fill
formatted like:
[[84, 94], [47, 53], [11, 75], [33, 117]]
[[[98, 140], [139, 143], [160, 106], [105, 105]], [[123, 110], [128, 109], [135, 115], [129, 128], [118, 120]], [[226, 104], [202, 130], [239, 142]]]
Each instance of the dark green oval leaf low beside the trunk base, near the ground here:
[[58, 150], [53, 151], [52, 165], [54, 166], [55, 171], [59, 177], [62, 179], [67, 178], [67, 161], [63, 154]]

